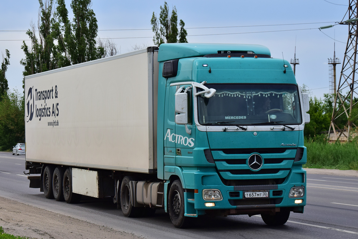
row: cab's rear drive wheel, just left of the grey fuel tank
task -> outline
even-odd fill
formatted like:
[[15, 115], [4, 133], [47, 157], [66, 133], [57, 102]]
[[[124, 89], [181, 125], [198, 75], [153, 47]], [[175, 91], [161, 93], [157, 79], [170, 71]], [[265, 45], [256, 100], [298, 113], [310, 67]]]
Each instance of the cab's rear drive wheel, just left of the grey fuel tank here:
[[120, 203], [123, 215], [127, 218], [136, 218], [142, 215], [144, 207], [134, 207], [132, 206], [132, 198], [130, 192], [130, 181], [133, 181], [131, 177], [126, 176], [122, 180], [121, 184], [121, 196]]

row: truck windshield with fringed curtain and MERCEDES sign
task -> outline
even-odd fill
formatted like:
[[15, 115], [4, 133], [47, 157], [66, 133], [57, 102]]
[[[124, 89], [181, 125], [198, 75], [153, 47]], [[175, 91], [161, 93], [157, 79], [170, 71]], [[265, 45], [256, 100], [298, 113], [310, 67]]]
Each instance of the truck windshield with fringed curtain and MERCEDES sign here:
[[296, 85], [205, 84], [216, 89], [211, 98], [198, 96], [201, 125], [301, 124]]

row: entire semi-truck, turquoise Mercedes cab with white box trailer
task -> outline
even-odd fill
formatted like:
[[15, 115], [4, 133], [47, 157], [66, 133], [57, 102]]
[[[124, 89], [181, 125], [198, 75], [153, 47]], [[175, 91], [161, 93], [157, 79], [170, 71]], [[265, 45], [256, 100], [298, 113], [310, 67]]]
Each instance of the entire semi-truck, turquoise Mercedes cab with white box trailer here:
[[308, 94], [254, 44], [168, 43], [25, 77], [31, 188], [126, 217], [285, 224], [306, 205]]

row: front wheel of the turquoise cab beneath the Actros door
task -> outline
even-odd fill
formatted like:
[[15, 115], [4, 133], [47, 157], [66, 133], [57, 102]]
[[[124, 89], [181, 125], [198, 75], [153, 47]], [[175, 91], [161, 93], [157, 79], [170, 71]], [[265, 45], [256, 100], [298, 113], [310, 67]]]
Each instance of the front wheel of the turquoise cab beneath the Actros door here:
[[176, 228], [188, 226], [189, 218], [184, 216], [184, 190], [180, 180], [175, 180], [169, 190], [168, 211], [170, 220]]

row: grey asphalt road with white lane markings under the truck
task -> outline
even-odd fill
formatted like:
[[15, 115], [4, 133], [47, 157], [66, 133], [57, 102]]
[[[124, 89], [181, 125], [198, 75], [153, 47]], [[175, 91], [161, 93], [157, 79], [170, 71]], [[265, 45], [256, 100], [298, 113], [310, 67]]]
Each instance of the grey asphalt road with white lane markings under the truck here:
[[[304, 214], [292, 213], [285, 225], [270, 227], [259, 215], [202, 217], [189, 229], [176, 229], [164, 210], [153, 217], [126, 218], [111, 199], [82, 197], [79, 204], [46, 199], [29, 188], [25, 157], [0, 152], [0, 196], [72, 216], [143, 238], [358, 238], [358, 178], [308, 175]], [[1, 204], [1, 202], [0, 202]]]

